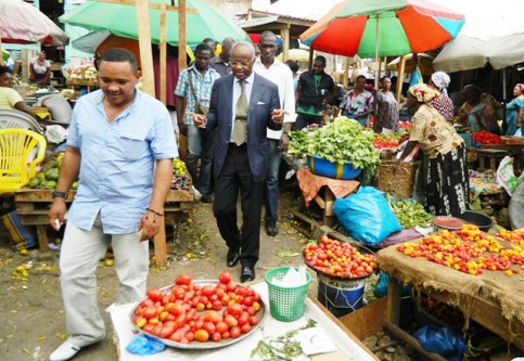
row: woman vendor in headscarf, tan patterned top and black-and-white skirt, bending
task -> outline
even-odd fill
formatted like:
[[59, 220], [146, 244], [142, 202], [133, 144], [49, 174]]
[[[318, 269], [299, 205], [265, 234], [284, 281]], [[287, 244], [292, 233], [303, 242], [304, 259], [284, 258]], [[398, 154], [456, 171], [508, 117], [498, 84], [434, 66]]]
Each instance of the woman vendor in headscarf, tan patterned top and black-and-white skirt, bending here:
[[400, 162], [420, 146], [420, 193], [425, 208], [434, 216], [458, 216], [468, 207], [469, 172], [464, 141], [444, 117], [430, 105], [440, 96], [424, 83], [409, 88], [406, 104], [414, 111], [411, 134]]

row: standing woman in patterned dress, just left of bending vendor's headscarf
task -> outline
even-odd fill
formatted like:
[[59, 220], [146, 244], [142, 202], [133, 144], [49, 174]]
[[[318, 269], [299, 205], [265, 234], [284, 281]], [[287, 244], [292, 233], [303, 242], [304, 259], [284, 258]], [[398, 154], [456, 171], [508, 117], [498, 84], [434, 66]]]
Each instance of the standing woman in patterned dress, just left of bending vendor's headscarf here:
[[382, 133], [382, 128], [393, 131], [398, 130], [398, 104], [395, 94], [391, 91], [392, 80], [383, 78], [381, 81], [382, 89], [374, 95], [376, 113], [373, 120], [373, 131]]

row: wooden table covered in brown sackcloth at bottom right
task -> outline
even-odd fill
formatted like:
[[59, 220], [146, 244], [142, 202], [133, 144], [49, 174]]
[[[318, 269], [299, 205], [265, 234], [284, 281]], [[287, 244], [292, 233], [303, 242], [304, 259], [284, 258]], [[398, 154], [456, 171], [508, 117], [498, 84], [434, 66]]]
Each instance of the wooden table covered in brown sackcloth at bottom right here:
[[[511, 248], [510, 244], [499, 242]], [[464, 319], [476, 321], [524, 350], [521, 274], [508, 276], [502, 271], [483, 270], [480, 275], [471, 275], [425, 258], [408, 257], [396, 246], [379, 250], [376, 260], [380, 268], [389, 274], [385, 322], [398, 326], [401, 284], [411, 284], [439, 301], [458, 307]]]

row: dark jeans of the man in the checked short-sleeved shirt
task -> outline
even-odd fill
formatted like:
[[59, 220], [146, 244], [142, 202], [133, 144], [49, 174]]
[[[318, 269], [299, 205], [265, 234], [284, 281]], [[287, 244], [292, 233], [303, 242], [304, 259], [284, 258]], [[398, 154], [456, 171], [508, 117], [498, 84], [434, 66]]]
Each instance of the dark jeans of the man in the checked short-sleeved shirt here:
[[[216, 130], [205, 131], [194, 125], [188, 126], [188, 154], [186, 166], [193, 184], [202, 194], [209, 193]], [[199, 172], [199, 159], [201, 160]]]

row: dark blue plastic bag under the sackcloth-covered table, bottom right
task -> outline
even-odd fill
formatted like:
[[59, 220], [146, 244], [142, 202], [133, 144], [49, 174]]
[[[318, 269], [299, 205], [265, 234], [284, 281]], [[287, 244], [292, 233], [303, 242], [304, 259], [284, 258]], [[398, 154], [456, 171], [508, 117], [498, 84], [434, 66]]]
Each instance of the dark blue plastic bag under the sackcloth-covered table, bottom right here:
[[449, 361], [462, 360], [465, 343], [459, 330], [425, 325], [417, 330], [413, 337], [430, 352], [438, 353]]

